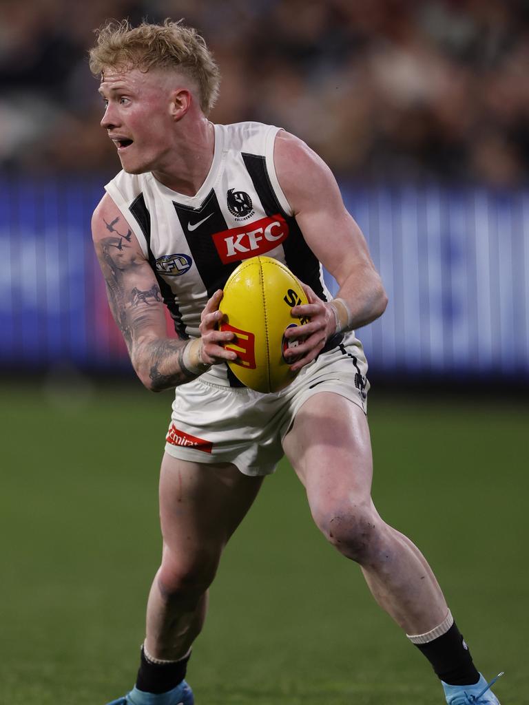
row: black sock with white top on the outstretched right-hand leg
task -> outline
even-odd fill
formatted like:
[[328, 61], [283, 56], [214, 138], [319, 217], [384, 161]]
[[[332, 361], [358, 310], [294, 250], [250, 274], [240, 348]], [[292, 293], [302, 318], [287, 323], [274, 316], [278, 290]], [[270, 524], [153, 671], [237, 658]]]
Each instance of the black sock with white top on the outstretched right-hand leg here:
[[448, 632], [427, 644], [415, 644], [449, 685], [474, 685], [480, 680], [468, 646], [454, 622]]

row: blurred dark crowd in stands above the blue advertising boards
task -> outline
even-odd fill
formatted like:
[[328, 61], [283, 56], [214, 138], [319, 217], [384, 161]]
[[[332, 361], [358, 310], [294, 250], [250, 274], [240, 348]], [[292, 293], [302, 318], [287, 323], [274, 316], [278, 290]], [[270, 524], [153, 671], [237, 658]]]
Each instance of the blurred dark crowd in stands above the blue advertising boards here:
[[124, 17], [196, 26], [214, 121], [281, 125], [339, 176], [527, 182], [527, 0], [2, 0], [0, 168], [116, 171], [87, 49]]

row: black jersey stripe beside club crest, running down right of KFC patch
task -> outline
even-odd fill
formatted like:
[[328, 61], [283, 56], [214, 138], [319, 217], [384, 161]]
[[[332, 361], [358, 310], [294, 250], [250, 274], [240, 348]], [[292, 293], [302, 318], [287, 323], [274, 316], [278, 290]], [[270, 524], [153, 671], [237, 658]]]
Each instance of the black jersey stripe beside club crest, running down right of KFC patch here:
[[281, 208], [270, 181], [266, 157], [245, 152], [242, 152], [242, 157], [267, 216], [281, 213], [288, 223], [288, 238], [283, 243], [286, 266], [300, 281], [308, 284], [320, 299], [327, 301], [320, 281], [320, 262], [305, 242], [296, 218], [288, 216]]

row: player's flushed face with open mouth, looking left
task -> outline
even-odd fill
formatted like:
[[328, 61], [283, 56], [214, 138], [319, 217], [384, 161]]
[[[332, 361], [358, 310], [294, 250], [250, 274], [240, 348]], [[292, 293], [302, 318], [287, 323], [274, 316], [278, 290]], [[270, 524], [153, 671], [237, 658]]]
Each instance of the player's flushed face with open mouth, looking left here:
[[[172, 79], [174, 81], [174, 78]], [[106, 104], [101, 125], [128, 173], [164, 166], [171, 145], [171, 76], [138, 68], [104, 71], [99, 93]]]

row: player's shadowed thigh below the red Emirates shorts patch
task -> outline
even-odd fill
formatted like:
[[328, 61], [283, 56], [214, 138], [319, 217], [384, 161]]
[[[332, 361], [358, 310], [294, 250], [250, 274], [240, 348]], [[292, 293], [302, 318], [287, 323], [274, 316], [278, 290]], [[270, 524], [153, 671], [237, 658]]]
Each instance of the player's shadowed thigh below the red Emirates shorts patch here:
[[200, 463], [164, 454], [159, 484], [164, 551], [178, 563], [220, 555], [262, 484], [231, 463]]

